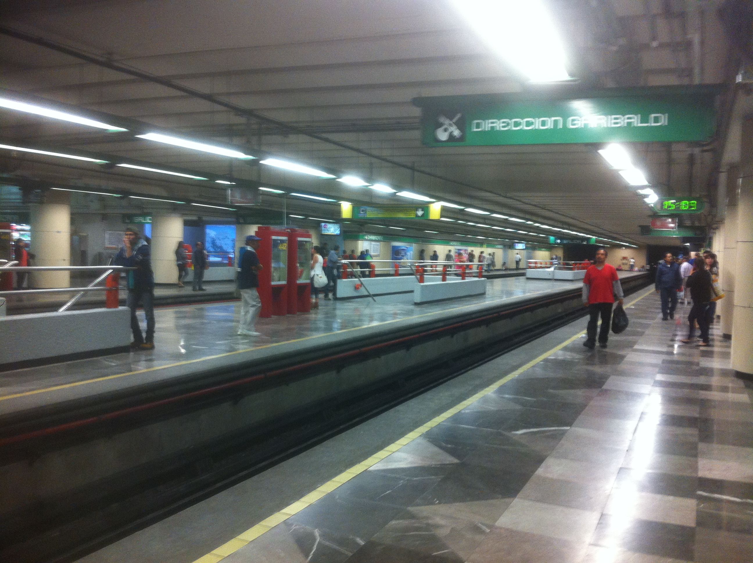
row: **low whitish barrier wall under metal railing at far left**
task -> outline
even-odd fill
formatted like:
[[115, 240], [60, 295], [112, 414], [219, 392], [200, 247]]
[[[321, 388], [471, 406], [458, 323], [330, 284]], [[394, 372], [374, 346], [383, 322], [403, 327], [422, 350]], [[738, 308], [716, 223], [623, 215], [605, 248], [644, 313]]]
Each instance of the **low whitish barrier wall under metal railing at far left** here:
[[130, 341], [126, 307], [0, 317], [0, 365], [111, 350]]

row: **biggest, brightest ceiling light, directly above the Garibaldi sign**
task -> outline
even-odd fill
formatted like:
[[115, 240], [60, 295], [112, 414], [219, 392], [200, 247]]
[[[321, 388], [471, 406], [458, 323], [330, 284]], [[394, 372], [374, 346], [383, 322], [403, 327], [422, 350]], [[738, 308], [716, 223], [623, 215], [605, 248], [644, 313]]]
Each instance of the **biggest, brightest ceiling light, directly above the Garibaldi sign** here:
[[[530, 81], [570, 78], [565, 50], [541, 0], [452, 0], [452, 4], [495, 54]], [[505, 26], [500, 32], [500, 22], [517, 25]]]

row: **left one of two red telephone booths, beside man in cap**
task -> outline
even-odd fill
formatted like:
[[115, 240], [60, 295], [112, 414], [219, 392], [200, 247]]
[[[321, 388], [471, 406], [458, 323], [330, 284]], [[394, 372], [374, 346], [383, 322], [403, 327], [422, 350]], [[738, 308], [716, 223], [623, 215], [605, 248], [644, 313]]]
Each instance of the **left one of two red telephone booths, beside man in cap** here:
[[288, 231], [259, 227], [261, 317], [288, 314]]

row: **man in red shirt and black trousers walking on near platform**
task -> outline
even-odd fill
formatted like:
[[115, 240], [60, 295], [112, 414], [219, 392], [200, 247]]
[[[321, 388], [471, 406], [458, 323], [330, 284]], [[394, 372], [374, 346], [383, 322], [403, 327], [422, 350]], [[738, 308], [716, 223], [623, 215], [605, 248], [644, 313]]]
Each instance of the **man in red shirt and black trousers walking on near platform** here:
[[596, 250], [596, 263], [586, 270], [586, 277], [583, 278], [583, 304], [587, 306], [591, 316], [588, 321], [588, 338], [583, 345], [591, 350], [596, 347], [596, 325], [599, 323], [599, 314], [602, 316], [599, 346], [605, 348], [609, 338], [614, 295], [617, 295], [618, 303], [623, 304], [624, 294], [620, 277], [617, 276], [614, 266], [608, 265], [606, 260], [606, 249]]

